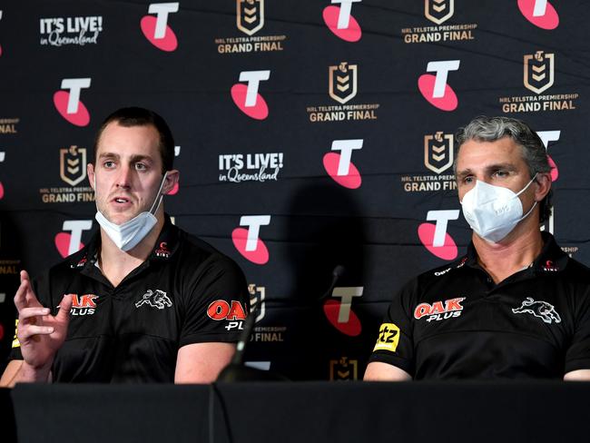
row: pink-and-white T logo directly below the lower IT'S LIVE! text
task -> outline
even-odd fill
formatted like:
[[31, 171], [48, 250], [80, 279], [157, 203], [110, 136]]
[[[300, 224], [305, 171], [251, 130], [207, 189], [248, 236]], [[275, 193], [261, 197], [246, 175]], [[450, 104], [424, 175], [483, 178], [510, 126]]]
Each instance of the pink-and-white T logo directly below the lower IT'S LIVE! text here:
[[248, 261], [256, 264], [266, 264], [269, 261], [269, 250], [260, 238], [261, 226], [270, 224], [270, 215], [244, 215], [240, 219], [240, 226], [231, 232], [233, 246]]

